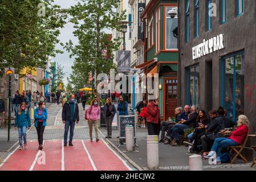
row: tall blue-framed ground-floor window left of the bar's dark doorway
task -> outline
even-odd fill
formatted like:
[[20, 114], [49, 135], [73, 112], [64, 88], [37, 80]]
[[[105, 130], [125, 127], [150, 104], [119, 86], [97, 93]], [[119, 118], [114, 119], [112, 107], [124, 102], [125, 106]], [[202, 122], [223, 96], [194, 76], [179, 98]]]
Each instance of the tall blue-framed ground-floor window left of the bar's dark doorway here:
[[186, 69], [186, 104], [195, 105], [200, 107], [200, 77], [199, 77], [199, 65], [196, 67], [190, 67]]

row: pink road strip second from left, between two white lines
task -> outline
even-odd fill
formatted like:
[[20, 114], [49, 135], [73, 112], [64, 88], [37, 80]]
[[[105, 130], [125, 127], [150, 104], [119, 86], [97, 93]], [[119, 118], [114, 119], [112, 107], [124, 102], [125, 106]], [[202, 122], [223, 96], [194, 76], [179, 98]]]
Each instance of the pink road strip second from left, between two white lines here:
[[[45, 154], [45, 164], [42, 163]], [[46, 140], [43, 150], [38, 156], [33, 171], [61, 171], [62, 170], [62, 141]]]

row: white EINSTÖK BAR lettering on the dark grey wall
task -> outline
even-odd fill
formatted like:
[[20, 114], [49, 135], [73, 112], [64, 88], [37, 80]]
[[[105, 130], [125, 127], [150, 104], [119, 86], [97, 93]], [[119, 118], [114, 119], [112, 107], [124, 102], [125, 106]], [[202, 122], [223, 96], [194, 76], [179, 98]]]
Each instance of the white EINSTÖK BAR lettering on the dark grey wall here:
[[224, 34], [220, 34], [209, 40], [204, 39], [203, 43], [197, 46], [194, 46], [192, 48], [193, 60], [223, 48], [224, 48]]

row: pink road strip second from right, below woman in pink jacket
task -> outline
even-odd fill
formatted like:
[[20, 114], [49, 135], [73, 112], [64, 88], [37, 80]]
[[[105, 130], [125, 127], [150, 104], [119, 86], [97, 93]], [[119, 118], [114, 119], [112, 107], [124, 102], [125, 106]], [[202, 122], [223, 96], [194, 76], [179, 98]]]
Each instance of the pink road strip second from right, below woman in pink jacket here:
[[73, 140], [74, 146], [64, 147], [65, 171], [94, 171], [82, 140]]

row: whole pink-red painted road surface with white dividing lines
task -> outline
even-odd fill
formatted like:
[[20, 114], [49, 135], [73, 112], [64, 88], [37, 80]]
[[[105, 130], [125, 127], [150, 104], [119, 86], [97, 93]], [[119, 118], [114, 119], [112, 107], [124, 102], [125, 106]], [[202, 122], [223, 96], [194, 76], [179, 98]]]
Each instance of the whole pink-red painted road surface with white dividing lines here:
[[43, 150], [38, 142], [27, 142], [27, 150], [15, 150], [0, 165], [0, 171], [127, 171], [131, 168], [104, 140], [74, 140], [64, 147], [62, 140], [46, 140]]

